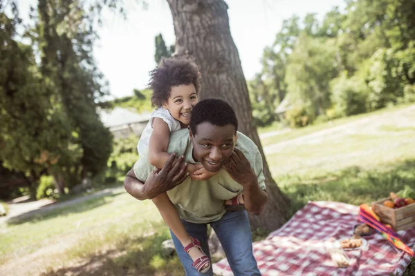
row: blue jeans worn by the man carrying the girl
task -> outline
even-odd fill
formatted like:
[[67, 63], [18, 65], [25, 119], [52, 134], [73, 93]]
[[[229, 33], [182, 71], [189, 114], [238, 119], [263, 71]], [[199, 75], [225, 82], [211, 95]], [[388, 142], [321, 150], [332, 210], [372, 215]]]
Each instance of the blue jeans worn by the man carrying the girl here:
[[[192, 224], [182, 219], [187, 233], [191, 237], [199, 239], [202, 244], [203, 252], [210, 257], [208, 246], [208, 226], [207, 224]], [[259, 272], [257, 261], [252, 253], [252, 235], [246, 210], [238, 210], [234, 212], [226, 212], [219, 221], [210, 224], [216, 235], [221, 241], [225, 255], [228, 258], [230, 268], [234, 275], [261, 275]], [[170, 231], [172, 233], [172, 231]], [[192, 267], [192, 258], [185, 253], [181, 242], [172, 233], [176, 252], [185, 268], [187, 276], [208, 275], [213, 276], [212, 267], [208, 273], [201, 274], [196, 268]]]

